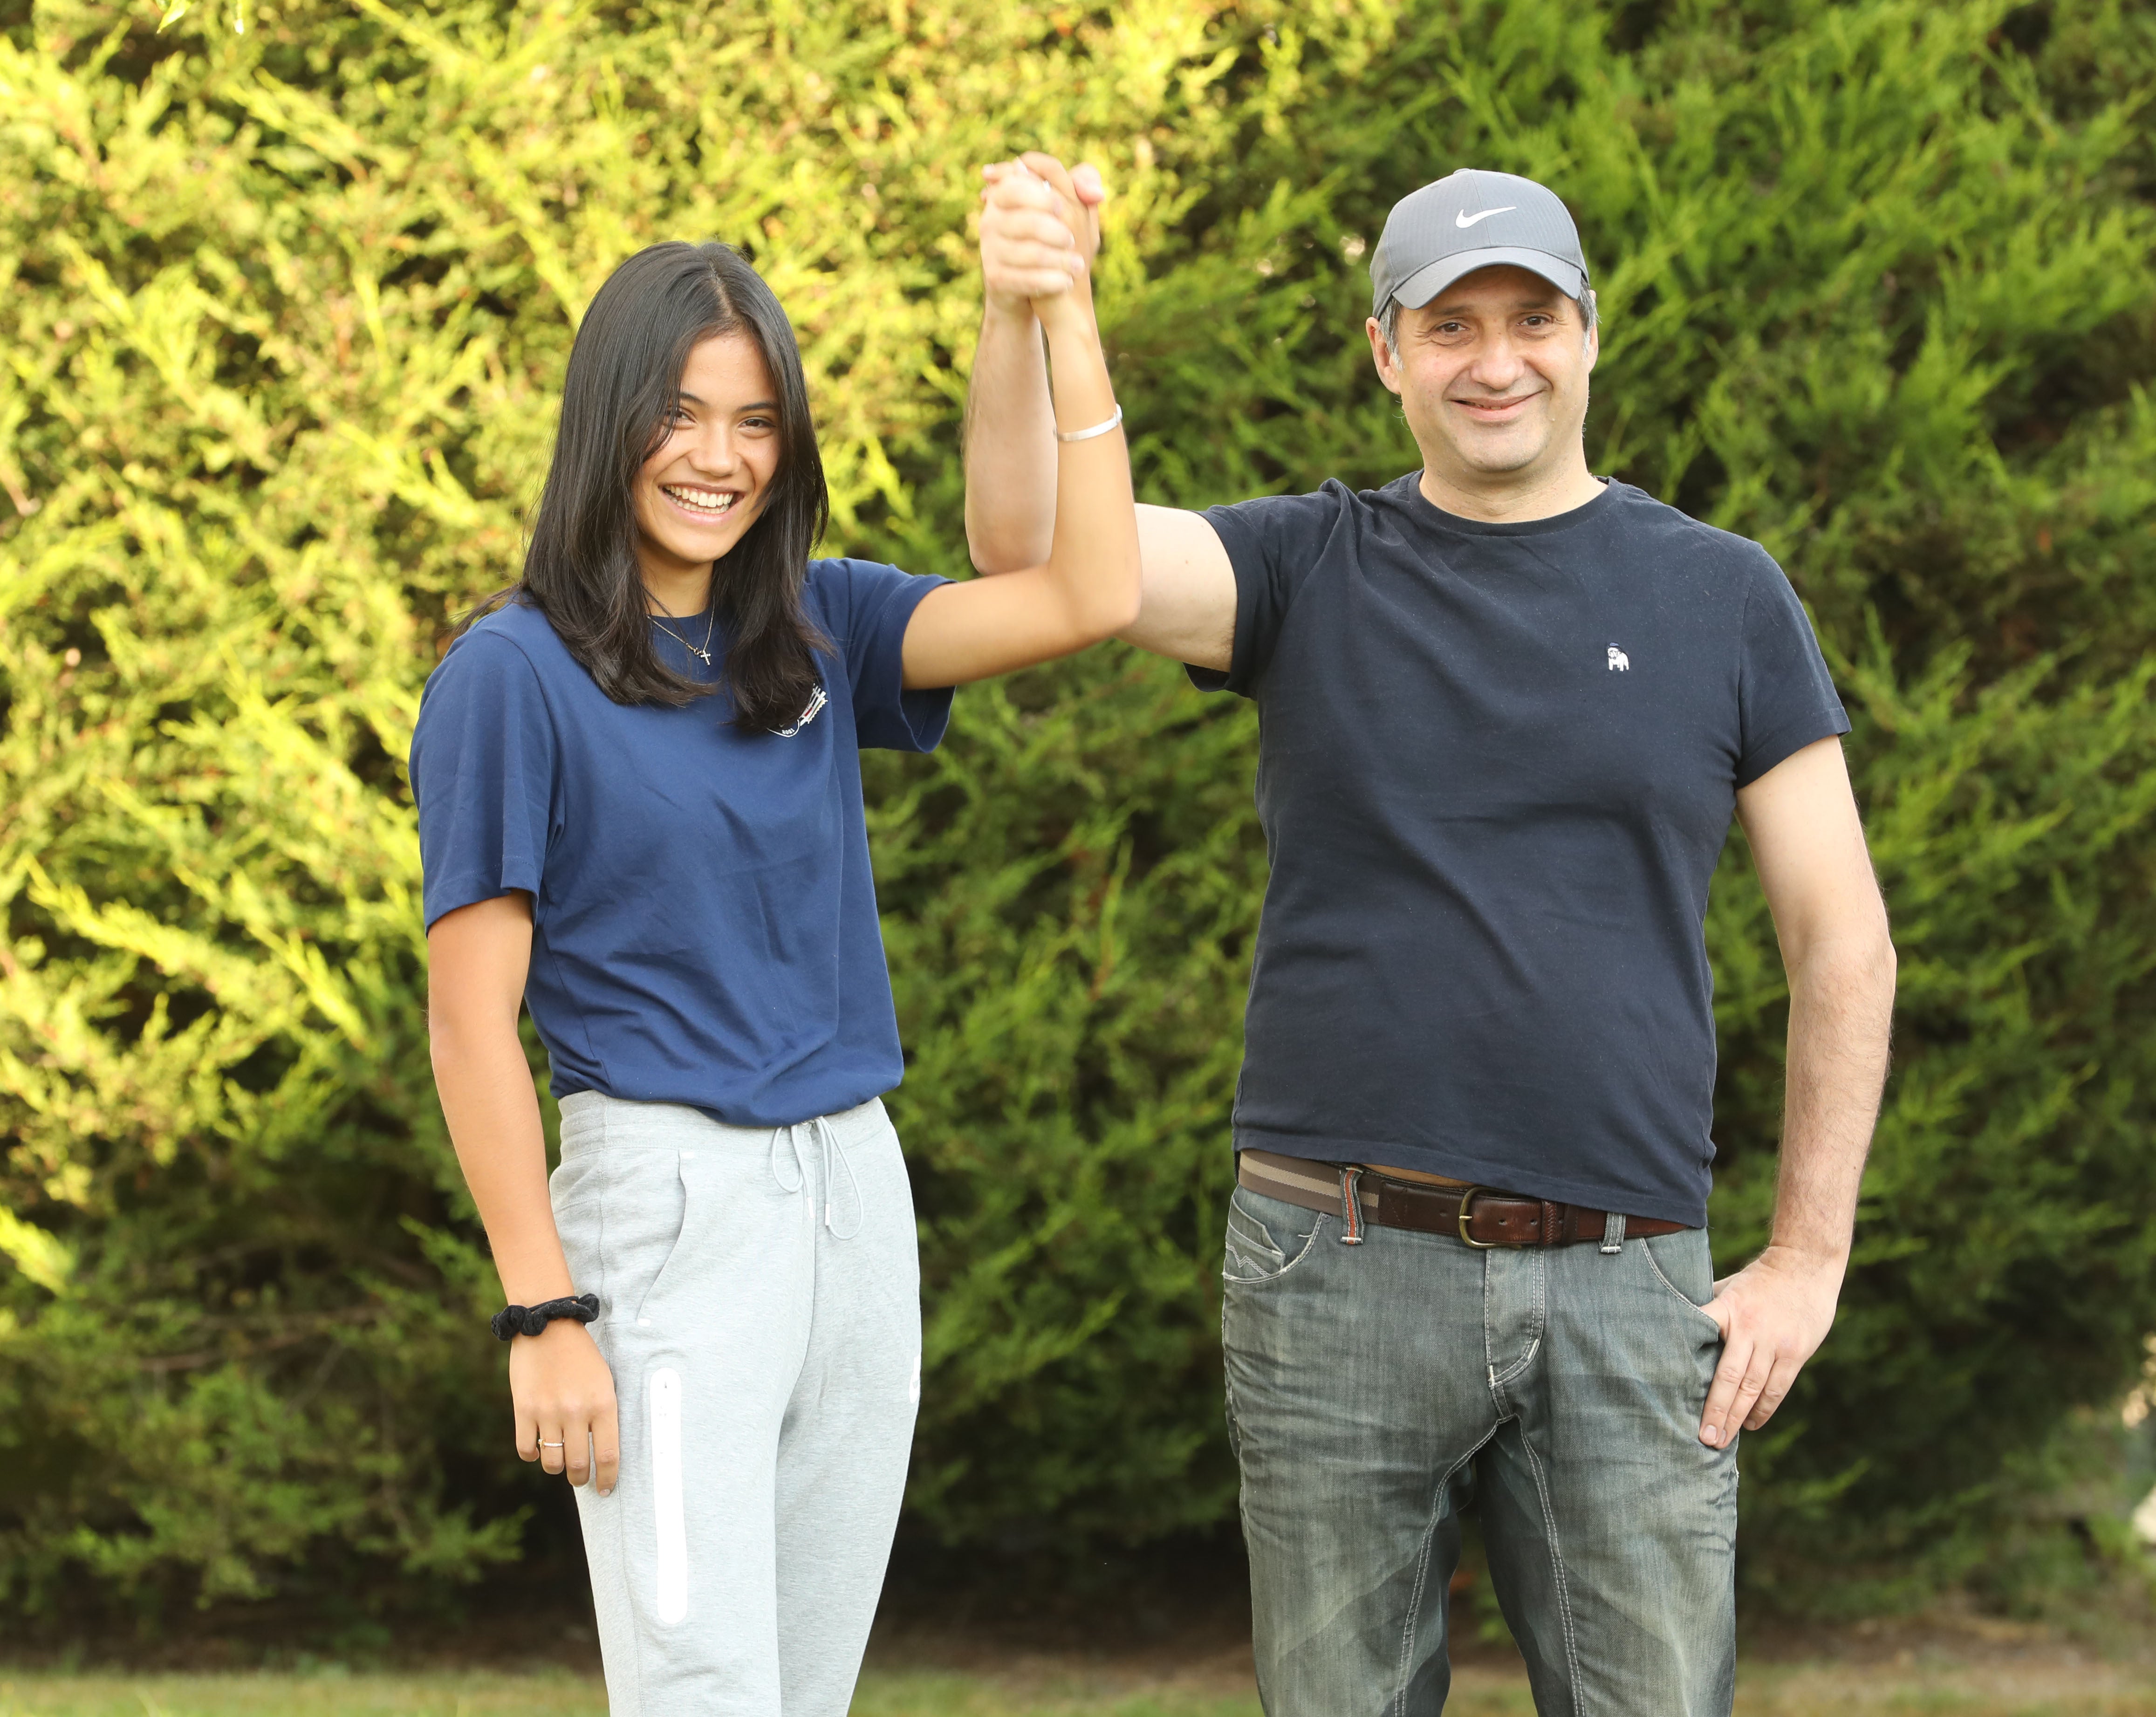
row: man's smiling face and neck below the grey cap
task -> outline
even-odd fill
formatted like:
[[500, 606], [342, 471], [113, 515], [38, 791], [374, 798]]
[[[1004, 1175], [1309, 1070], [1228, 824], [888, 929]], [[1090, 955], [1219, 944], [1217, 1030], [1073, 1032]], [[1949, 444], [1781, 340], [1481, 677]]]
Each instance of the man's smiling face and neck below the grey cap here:
[[1399, 358], [1369, 321], [1425, 470], [1466, 494], [1587, 479], [1580, 427], [1598, 341], [1580, 306], [1524, 267], [1479, 267], [1399, 313]]

